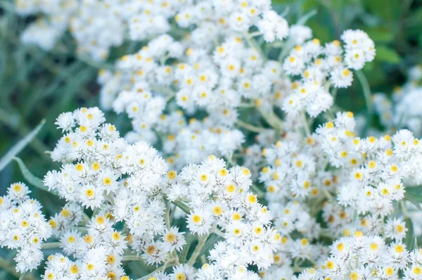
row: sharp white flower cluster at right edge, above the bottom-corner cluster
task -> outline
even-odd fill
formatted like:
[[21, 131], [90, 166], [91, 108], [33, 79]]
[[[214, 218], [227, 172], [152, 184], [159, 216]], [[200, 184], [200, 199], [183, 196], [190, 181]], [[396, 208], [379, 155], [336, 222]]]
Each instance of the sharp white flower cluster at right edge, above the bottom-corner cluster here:
[[[322, 150], [335, 167], [348, 167], [348, 178], [340, 179], [338, 202], [359, 214], [371, 212], [385, 217], [392, 212], [393, 201], [404, 197], [404, 178], [417, 176], [421, 168], [421, 140], [409, 130], [393, 136], [366, 139], [354, 137], [351, 122], [336, 118], [321, 127]], [[331, 128], [329, 128], [331, 127]], [[344, 169], [344, 168], [343, 168]], [[418, 176], [416, 181], [420, 181]]]

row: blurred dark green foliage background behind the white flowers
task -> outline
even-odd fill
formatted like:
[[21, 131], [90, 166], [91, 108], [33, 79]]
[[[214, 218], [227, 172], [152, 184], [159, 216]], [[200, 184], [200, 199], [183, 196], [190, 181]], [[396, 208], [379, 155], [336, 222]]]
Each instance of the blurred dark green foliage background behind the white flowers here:
[[[376, 43], [376, 58], [364, 68], [372, 92], [390, 93], [406, 81], [407, 69], [421, 63], [422, 0], [274, 0], [277, 11], [288, 8], [290, 25], [305, 13], [316, 10], [307, 25], [322, 43], [338, 39], [343, 30], [361, 29]], [[62, 112], [79, 106], [98, 106], [98, 65], [80, 61], [74, 56], [75, 46], [70, 34], [60, 39], [51, 53], [34, 46], [20, 44], [19, 35], [34, 18], [20, 18], [13, 11], [13, 1], [0, 0], [0, 158], [19, 139], [36, 127], [42, 119], [46, 124], [18, 156], [39, 178], [59, 166], [44, 151], [51, 151], [61, 133], [53, 124]], [[63, 51], [67, 49], [68, 51]], [[137, 46], [136, 46], [137, 47]], [[133, 50], [126, 43], [114, 49], [108, 62]], [[352, 87], [338, 93], [337, 103], [346, 110], [365, 110], [362, 87], [356, 80]], [[129, 129], [124, 117], [107, 114], [122, 134]], [[15, 162], [0, 172], [0, 195], [13, 182], [23, 181]], [[32, 196], [44, 205], [46, 215], [57, 212], [64, 201], [35, 189]], [[56, 200], [55, 203], [51, 203]], [[5, 254], [4, 250], [0, 251]], [[6, 277], [6, 278], [4, 278]], [[1, 279], [8, 279], [6, 274]], [[12, 278], [11, 278], [12, 279]]]

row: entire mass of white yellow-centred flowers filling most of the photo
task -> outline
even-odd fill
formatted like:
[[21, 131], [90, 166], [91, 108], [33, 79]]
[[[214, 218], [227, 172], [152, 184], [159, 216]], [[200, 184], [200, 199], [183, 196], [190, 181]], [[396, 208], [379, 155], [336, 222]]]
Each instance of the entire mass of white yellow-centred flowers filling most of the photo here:
[[[56, 119], [60, 167], [42, 182], [65, 201], [60, 211], [45, 219], [23, 183], [0, 197], [0, 246], [18, 250], [18, 272], [422, 279], [420, 67], [392, 101], [364, 86], [364, 119], [334, 104], [354, 77], [365, 81], [376, 56], [368, 34], [321, 42], [310, 15], [289, 25], [268, 0], [15, 8], [39, 16], [21, 39], [45, 50], [66, 30], [95, 61], [125, 41], [142, 45], [98, 72], [100, 106], [127, 117], [124, 136], [97, 107]], [[41, 262], [47, 248], [57, 249]]]

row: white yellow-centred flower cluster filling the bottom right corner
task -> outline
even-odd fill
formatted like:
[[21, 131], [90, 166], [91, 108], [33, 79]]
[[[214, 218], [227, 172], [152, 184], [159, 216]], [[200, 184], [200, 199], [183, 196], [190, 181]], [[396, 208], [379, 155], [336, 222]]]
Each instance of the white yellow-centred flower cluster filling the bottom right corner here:
[[[395, 227], [404, 229], [402, 224]], [[388, 244], [382, 236], [354, 231], [330, 246], [321, 269], [308, 269], [298, 279], [421, 279], [422, 251], [409, 251], [401, 238], [390, 238], [394, 242]]]

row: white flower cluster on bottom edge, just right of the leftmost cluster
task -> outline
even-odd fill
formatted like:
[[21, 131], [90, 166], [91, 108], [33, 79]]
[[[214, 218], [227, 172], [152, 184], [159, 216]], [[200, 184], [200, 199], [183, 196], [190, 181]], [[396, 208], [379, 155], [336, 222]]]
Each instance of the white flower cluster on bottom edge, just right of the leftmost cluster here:
[[110, 218], [96, 215], [84, 235], [75, 229], [64, 231], [60, 246], [77, 261], [61, 254], [50, 255], [43, 279], [124, 279], [121, 265], [126, 236], [113, 229]]

